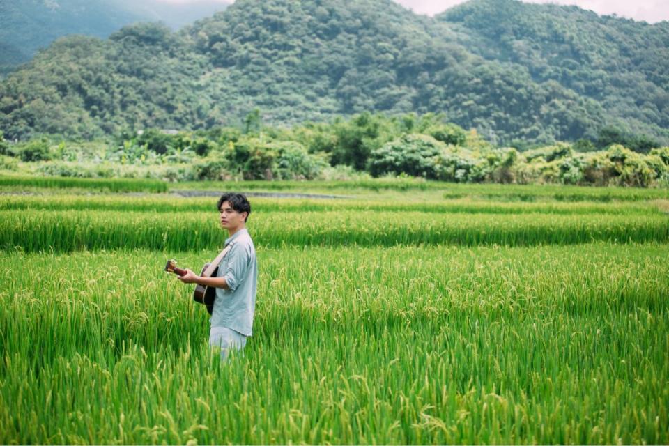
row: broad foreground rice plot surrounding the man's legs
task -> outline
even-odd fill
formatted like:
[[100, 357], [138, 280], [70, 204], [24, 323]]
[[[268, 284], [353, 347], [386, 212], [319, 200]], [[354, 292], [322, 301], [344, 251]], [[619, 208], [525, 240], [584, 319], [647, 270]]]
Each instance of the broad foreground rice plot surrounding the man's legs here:
[[667, 249], [260, 248], [225, 364], [209, 253], [2, 253], [0, 443], [668, 443]]

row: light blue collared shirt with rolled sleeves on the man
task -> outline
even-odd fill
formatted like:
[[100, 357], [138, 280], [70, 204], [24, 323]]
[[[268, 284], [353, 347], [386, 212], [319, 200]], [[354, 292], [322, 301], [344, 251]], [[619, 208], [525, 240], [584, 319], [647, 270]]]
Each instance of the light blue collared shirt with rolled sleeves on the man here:
[[226, 327], [251, 336], [258, 282], [256, 249], [247, 229], [240, 229], [225, 240], [225, 246], [230, 243], [233, 245], [217, 272], [218, 277], [225, 277], [230, 289], [216, 289], [210, 322], [212, 327]]

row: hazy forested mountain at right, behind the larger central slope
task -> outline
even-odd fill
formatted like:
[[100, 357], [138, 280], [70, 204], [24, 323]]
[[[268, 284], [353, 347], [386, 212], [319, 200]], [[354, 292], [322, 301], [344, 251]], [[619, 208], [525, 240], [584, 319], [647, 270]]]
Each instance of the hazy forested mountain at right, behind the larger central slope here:
[[489, 61], [528, 70], [601, 105], [607, 122], [666, 141], [669, 22], [599, 17], [576, 6], [474, 0], [437, 17]]

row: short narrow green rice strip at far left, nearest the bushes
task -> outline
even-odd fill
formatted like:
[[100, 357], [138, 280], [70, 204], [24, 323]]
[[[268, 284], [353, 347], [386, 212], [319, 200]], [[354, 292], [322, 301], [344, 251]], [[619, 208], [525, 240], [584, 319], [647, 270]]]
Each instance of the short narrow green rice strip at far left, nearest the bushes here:
[[167, 183], [158, 180], [121, 178], [62, 178], [58, 176], [0, 176], [0, 187], [83, 189], [108, 192], [166, 192]]

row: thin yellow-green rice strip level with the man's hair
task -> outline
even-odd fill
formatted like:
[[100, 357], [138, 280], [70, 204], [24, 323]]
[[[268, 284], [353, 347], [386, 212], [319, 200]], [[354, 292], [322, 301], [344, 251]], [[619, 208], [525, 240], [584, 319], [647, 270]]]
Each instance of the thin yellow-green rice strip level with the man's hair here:
[[[454, 199], [441, 202], [411, 202], [406, 200], [378, 199], [274, 199], [249, 197], [253, 212], [330, 212], [355, 210], [366, 212], [424, 212], [424, 213], [486, 213], [486, 214], [656, 214], [655, 203], [561, 203], [541, 201], [532, 203]], [[177, 213], [215, 211], [217, 197], [189, 197], [151, 195], [128, 197], [123, 195], [82, 196], [58, 195], [5, 195], [0, 197], [0, 210], [118, 210], [137, 212]]]

